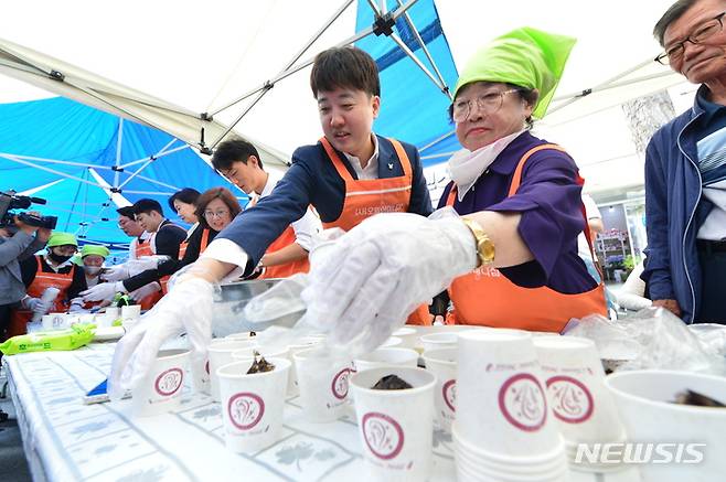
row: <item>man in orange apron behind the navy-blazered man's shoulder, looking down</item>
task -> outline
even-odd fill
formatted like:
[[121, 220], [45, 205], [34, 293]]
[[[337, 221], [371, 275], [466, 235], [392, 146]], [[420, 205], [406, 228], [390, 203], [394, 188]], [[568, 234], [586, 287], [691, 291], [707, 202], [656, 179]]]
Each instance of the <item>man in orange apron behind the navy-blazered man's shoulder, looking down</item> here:
[[[273, 193], [281, 176], [266, 172], [257, 149], [242, 139], [222, 142], [212, 157], [212, 165], [250, 196], [247, 207], [255, 206]], [[292, 222], [273, 242], [257, 264], [260, 278], [287, 278], [296, 272], [308, 272], [308, 251], [312, 236], [322, 231], [320, 219], [308, 207], [298, 221]]]

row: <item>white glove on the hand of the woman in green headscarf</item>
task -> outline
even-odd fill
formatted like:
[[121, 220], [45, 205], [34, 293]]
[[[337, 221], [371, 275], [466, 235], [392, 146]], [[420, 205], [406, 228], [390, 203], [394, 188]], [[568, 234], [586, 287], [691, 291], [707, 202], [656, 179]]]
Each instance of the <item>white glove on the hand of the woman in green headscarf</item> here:
[[474, 237], [459, 216], [452, 210], [433, 216], [377, 214], [323, 256], [313, 251], [303, 320], [351, 353], [383, 343], [414, 309], [477, 266]]

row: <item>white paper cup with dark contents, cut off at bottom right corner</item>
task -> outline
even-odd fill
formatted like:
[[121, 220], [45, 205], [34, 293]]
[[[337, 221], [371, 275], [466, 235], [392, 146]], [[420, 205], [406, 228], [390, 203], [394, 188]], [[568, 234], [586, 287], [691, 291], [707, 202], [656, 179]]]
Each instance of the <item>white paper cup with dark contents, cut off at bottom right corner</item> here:
[[[645, 463], [645, 482], [722, 481], [726, 473], [724, 433], [726, 408], [673, 404], [675, 395], [691, 389], [726, 403], [726, 378], [673, 371], [618, 372], [605, 379], [612, 393], [631, 442], [685, 444], [681, 463]], [[702, 443], [687, 447], [688, 443]], [[641, 450], [644, 450], [641, 448]], [[674, 446], [660, 448], [677, 456]], [[695, 454], [698, 452], [700, 456]], [[663, 460], [665, 456], [655, 456]], [[702, 459], [694, 463], [693, 460]], [[691, 462], [684, 463], [685, 460]]]

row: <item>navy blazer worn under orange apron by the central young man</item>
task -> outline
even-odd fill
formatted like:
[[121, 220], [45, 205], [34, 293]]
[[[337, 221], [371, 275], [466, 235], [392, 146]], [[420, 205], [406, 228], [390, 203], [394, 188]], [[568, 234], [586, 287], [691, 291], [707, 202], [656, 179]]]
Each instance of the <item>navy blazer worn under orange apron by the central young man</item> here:
[[[434, 210], [418, 150], [405, 142], [402, 146], [413, 171], [408, 212], [428, 216]], [[339, 156], [353, 179], [357, 179], [345, 157], [340, 152]], [[378, 136], [378, 178], [401, 175], [403, 167], [393, 144]], [[338, 174], [322, 144], [302, 146], [292, 153], [292, 165], [275, 185], [273, 193], [254, 207], [239, 213], [217, 238], [239, 245], [250, 258], [252, 263], [247, 265], [249, 270], [290, 223], [302, 217], [309, 205], [316, 208], [323, 223], [328, 223], [338, 219], [344, 200], [345, 182]]]

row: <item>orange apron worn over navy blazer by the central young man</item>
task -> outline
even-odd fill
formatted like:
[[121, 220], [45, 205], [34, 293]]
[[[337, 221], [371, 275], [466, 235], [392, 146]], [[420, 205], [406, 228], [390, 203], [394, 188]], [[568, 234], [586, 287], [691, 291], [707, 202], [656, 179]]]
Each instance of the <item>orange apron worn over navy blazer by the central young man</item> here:
[[[338, 174], [345, 182], [345, 199], [343, 200], [343, 210], [340, 217], [330, 223], [322, 223], [325, 229], [340, 227], [344, 231], [351, 231], [365, 218], [378, 213], [405, 213], [408, 211], [410, 202], [410, 190], [413, 182], [410, 160], [406, 150], [395, 139], [389, 139], [393, 143], [398, 160], [404, 170], [404, 175], [387, 179], [359, 179], [355, 180], [345, 168], [345, 164], [324, 137], [320, 139], [328, 157], [332, 161]], [[428, 314], [428, 306], [421, 304], [410, 313], [408, 324], [431, 324]]]

